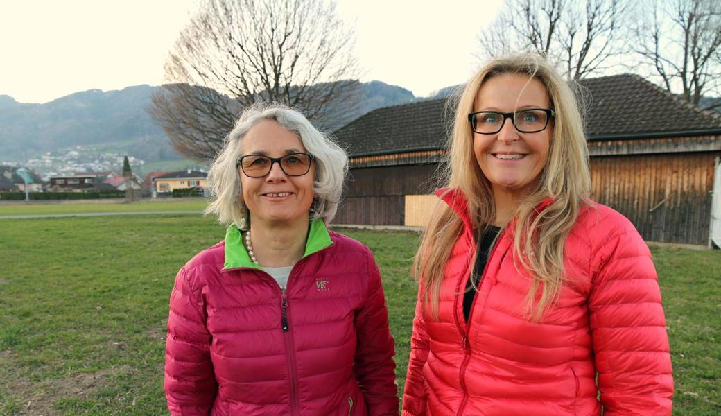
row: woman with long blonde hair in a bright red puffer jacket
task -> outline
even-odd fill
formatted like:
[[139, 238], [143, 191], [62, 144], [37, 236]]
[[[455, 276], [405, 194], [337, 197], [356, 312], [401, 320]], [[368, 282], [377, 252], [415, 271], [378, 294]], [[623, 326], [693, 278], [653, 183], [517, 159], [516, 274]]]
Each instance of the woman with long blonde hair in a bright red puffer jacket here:
[[569, 84], [539, 56], [487, 63], [459, 97], [448, 170], [415, 257], [402, 414], [671, 415], [651, 255], [588, 200]]

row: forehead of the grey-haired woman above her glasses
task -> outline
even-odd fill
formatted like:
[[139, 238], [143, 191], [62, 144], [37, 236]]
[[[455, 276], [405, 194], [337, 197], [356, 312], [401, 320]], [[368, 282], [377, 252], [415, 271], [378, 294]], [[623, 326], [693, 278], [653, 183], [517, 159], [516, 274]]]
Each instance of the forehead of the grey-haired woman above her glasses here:
[[286, 154], [288, 150], [306, 151], [303, 141], [275, 120], [260, 120], [245, 133], [241, 144], [244, 154]]

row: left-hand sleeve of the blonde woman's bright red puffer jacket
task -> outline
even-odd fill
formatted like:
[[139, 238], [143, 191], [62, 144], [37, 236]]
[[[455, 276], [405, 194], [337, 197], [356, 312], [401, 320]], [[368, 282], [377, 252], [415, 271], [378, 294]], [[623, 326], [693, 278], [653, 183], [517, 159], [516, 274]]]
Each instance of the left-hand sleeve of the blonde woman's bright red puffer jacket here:
[[428, 359], [428, 334], [425, 332], [425, 321], [421, 311], [421, 289], [418, 288], [418, 300], [415, 304], [415, 318], [413, 319], [413, 335], [410, 339], [410, 358], [405, 388], [403, 390], [402, 416], [425, 415], [425, 402], [427, 400], [423, 366]]

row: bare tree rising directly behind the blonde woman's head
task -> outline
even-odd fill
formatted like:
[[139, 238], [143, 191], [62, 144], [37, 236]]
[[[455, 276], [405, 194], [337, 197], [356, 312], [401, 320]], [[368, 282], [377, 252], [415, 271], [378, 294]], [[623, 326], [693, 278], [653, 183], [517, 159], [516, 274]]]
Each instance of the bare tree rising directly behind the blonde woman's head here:
[[599, 74], [625, 51], [627, 9], [626, 0], [506, 0], [504, 11], [479, 35], [478, 55], [536, 52], [569, 79]]

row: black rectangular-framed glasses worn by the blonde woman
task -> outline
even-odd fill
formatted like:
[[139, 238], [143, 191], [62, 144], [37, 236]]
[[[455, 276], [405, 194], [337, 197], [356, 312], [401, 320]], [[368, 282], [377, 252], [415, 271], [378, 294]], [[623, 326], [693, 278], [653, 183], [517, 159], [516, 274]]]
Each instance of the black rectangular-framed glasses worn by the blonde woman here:
[[479, 134], [498, 133], [507, 118], [513, 121], [513, 126], [521, 133], [537, 133], [546, 130], [548, 121], [554, 117], [556, 112], [549, 108], [527, 108], [513, 112], [472, 112], [468, 115], [468, 120], [473, 131]]

